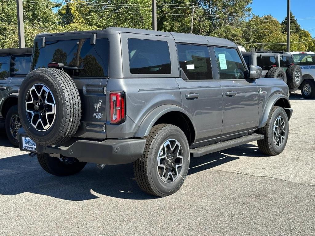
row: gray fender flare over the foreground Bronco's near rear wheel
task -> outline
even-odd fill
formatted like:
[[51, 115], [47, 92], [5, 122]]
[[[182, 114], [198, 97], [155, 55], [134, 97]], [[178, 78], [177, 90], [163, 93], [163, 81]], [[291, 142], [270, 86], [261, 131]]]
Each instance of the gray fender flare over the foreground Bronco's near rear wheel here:
[[167, 104], [167, 105], [162, 105], [162, 106], [155, 108], [143, 119], [137, 132], [135, 133], [135, 137], [144, 137], [144, 136], [149, 135], [149, 132], [150, 132], [151, 128], [153, 127], [154, 123], [162, 115], [164, 115], [168, 112], [171, 112], [171, 111], [179, 111], [179, 112], [185, 114], [190, 119], [190, 121], [192, 122], [192, 125], [193, 125], [195, 133], [196, 133], [196, 128], [195, 128], [192, 116], [188, 112], [186, 112], [184, 109], [182, 109], [181, 107]]

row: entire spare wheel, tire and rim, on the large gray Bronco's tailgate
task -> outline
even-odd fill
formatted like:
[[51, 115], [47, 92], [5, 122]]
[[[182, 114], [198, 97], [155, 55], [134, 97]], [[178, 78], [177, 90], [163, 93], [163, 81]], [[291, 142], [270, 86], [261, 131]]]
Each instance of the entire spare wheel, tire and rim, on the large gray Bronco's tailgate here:
[[40, 68], [22, 82], [18, 110], [31, 139], [46, 146], [57, 145], [77, 132], [81, 99], [74, 81], [63, 70]]

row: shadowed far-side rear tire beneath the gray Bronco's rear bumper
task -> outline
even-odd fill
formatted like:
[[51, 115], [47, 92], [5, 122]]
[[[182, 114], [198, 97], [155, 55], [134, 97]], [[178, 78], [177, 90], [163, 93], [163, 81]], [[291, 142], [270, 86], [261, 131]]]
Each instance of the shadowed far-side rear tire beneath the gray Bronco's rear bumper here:
[[77, 174], [86, 165], [86, 162], [80, 162], [73, 157], [57, 158], [48, 154], [37, 154], [37, 160], [44, 171], [56, 176]]

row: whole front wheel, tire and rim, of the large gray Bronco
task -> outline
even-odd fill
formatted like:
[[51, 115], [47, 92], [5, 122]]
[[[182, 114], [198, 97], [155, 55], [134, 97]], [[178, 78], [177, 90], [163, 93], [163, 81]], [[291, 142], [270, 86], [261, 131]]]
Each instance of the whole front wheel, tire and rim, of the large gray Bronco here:
[[273, 107], [266, 125], [257, 133], [265, 136], [264, 139], [257, 141], [262, 153], [271, 156], [282, 153], [289, 134], [289, 121], [285, 110], [282, 107]]

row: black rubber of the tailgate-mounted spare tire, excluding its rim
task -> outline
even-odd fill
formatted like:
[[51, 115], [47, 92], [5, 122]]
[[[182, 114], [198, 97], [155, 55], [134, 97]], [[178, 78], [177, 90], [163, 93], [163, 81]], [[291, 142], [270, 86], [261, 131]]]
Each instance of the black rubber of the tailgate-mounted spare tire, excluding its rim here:
[[[26, 114], [27, 93], [37, 83], [52, 91], [56, 103], [56, 117], [46, 131], [35, 129]], [[63, 70], [40, 68], [31, 71], [23, 80], [19, 94], [18, 108], [22, 126], [36, 143], [45, 146], [58, 145], [72, 138], [77, 132], [81, 121], [81, 99], [74, 81]]]

